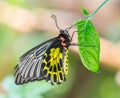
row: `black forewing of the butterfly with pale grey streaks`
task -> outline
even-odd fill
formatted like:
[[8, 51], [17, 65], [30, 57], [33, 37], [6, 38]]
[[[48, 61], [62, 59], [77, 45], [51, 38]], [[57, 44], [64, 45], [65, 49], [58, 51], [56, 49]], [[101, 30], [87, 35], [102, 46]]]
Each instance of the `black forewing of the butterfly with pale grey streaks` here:
[[29, 50], [22, 57], [20, 57], [20, 61], [15, 67], [16, 84], [23, 84], [34, 79], [42, 79], [40, 69], [43, 55], [56, 40], [57, 38], [50, 39]]

